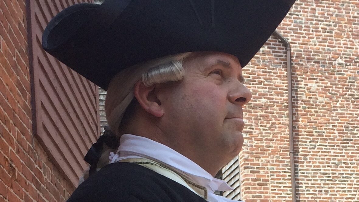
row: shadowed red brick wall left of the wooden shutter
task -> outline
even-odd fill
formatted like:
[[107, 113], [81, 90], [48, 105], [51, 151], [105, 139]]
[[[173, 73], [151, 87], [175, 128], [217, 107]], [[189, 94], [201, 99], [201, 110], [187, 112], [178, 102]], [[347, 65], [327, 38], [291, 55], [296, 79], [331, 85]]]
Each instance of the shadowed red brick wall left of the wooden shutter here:
[[0, 0], [0, 201], [65, 201], [74, 191], [32, 133], [25, 0]]

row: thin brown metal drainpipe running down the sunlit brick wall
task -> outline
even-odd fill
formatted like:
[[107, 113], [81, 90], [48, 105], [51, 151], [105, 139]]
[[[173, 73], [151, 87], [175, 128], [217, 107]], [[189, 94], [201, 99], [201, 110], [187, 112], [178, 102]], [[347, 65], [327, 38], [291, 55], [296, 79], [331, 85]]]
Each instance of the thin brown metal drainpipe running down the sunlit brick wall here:
[[295, 172], [294, 172], [294, 140], [293, 140], [293, 107], [292, 107], [292, 61], [290, 53], [290, 43], [277, 30], [273, 33], [284, 45], [287, 52], [287, 79], [288, 79], [288, 118], [289, 118], [289, 157], [290, 157], [290, 176], [292, 181], [292, 201], [296, 202], [295, 193]]

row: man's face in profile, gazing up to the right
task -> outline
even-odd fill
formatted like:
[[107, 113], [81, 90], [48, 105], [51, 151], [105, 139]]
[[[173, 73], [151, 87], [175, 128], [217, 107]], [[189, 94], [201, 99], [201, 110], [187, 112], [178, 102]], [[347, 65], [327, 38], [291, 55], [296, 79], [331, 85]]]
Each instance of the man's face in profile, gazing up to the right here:
[[200, 52], [183, 66], [181, 82], [162, 86], [165, 130], [180, 135], [187, 149], [202, 157], [232, 159], [243, 145], [242, 107], [251, 100], [241, 64], [230, 54]]

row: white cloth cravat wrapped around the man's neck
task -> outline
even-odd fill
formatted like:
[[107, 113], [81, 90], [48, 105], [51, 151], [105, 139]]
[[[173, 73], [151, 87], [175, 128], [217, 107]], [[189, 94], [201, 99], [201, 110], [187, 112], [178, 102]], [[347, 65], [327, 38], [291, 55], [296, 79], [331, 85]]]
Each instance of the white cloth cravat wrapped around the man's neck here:
[[192, 182], [205, 187], [209, 202], [234, 202], [234, 200], [214, 194], [215, 191], [233, 190], [226, 182], [214, 178], [195, 162], [166, 145], [141, 136], [124, 134], [121, 136], [116, 154], [111, 152], [109, 163], [129, 158], [147, 158], [167, 165], [188, 177]]

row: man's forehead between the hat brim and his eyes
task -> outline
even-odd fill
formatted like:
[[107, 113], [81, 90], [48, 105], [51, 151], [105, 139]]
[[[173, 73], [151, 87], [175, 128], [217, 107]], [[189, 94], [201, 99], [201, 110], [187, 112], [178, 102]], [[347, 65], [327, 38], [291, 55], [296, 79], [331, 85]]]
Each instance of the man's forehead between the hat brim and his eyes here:
[[188, 70], [205, 70], [214, 65], [222, 65], [225, 68], [234, 68], [242, 71], [238, 58], [222, 52], [195, 52], [183, 62]]

